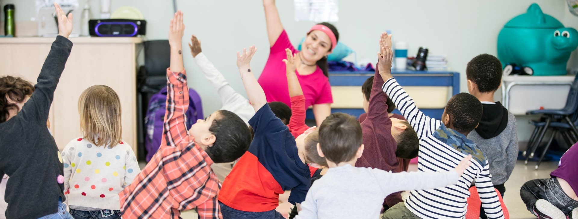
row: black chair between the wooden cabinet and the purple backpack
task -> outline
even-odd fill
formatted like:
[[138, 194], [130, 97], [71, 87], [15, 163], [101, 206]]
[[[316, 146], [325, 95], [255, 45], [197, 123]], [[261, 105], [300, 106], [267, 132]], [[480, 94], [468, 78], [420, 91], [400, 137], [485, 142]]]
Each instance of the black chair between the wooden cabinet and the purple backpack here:
[[166, 86], [166, 68], [171, 65], [171, 46], [168, 40], [144, 41], [144, 66], [136, 75], [136, 114], [138, 135], [138, 158], [144, 160], [144, 117], [146, 116], [149, 100]]

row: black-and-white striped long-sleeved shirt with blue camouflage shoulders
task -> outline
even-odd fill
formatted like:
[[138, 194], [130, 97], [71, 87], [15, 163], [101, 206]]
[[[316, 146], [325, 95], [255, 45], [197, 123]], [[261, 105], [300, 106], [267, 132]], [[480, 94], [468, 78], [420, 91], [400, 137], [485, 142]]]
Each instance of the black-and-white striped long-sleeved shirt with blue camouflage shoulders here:
[[475, 182], [486, 216], [490, 219], [504, 218], [483, 151], [465, 135], [444, 126], [442, 121], [425, 116], [395, 78], [387, 80], [382, 89], [420, 138], [418, 171], [449, 171], [472, 154], [472, 165], [464, 171], [457, 184], [431, 190], [413, 190], [406, 199], [407, 209], [420, 218], [465, 218], [466, 199], [470, 195], [468, 189]]

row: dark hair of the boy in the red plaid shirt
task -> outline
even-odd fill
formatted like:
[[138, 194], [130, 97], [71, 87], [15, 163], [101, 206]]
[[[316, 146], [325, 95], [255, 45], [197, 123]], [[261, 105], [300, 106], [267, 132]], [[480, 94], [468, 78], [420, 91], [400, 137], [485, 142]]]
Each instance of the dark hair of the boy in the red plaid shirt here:
[[214, 163], [228, 163], [237, 160], [249, 149], [253, 135], [251, 128], [238, 115], [227, 110], [218, 113], [209, 127], [216, 139], [205, 152]]

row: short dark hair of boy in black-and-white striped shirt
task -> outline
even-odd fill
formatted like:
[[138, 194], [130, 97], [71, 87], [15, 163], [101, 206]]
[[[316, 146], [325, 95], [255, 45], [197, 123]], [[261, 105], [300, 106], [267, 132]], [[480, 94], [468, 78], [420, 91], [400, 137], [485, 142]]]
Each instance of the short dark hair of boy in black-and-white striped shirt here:
[[483, 107], [475, 96], [458, 93], [447, 101], [446, 114], [450, 116], [454, 130], [469, 133], [480, 123]]

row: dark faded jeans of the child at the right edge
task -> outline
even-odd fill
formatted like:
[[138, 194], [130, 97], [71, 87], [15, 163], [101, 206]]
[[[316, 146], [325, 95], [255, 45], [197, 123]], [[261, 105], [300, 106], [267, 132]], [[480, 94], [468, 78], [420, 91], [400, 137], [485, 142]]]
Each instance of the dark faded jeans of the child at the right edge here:
[[538, 199], [546, 199], [562, 210], [564, 214], [568, 214], [578, 207], [578, 201], [566, 195], [556, 178], [535, 179], [524, 183], [520, 189], [520, 197], [530, 212], [532, 212], [532, 207], [536, 205]]

